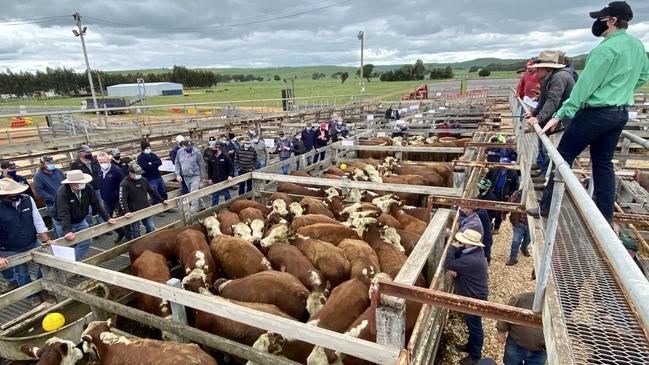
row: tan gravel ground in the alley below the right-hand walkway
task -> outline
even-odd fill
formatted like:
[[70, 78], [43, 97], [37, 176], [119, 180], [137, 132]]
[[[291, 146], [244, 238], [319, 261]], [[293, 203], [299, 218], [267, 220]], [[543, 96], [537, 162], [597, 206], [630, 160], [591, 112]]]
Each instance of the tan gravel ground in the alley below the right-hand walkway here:
[[[494, 236], [492, 247], [492, 260], [489, 265], [489, 301], [507, 304], [509, 298], [525, 291], [534, 291], [535, 281], [532, 281], [534, 267], [532, 257], [525, 257], [519, 253], [518, 264], [506, 266], [512, 242], [512, 226], [506, 219], [500, 227], [500, 232]], [[530, 253], [534, 248], [530, 245]], [[502, 364], [504, 345], [496, 340], [496, 321], [483, 319], [484, 346], [482, 357], [491, 358]], [[437, 364], [459, 364], [466, 356], [455, 350], [455, 344], [466, 343], [468, 332], [462, 315], [451, 312], [449, 315], [442, 343], [437, 355]]]

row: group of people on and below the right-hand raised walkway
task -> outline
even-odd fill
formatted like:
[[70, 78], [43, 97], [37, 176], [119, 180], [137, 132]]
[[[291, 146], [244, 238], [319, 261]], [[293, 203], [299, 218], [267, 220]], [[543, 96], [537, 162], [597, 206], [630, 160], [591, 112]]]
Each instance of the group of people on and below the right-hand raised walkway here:
[[[568, 164], [590, 147], [593, 168], [593, 200], [604, 217], [612, 223], [615, 202], [615, 175], [612, 158], [620, 133], [628, 120], [628, 108], [634, 105], [634, 91], [649, 80], [649, 59], [640, 40], [626, 32], [633, 18], [631, 7], [624, 1], [614, 1], [600, 11], [591, 12], [592, 33], [604, 40], [591, 51], [585, 69], [577, 75], [561, 51], [543, 51], [530, 59], [520, 70], [518, 96], [532, 106], [521, 110], [521, 122], [528, 126], [539, 124], [542, 134], [558, 144], [558, 151]], [[495, 135], [489, 142], [512, 142]], [[520, 176], [507, 168], [516, 160], [514, 151], [489, 148], [487, 162], [498, 166], [489, 170], [478, 182], [477, 199], [521, 202]], [[525, 213], [509, 213], [513, 238], [506, 265], [518, 263], [519, 252], [529, 256], [530, 232], [526, 214], [547, 216], [552, 199], [553, 173], [547, 171], [549, 158], [539, 143], [537, 160], [532, 166], [533, 182], [543, 189], [538, 208]], [[499, 232], [504, 214], [484, 209], [460, 208], [460, 228], [447, 253], [445, 268], [453, 277], [459, 295], [487, 300], [489, 296], [488, 265], [491, 261], [492, 235]], [[615, 225], [620, 240], [635, 259], [637, 244], [630, 234]], [[639, 266], [639, 265], [638, 265]], [[510, 306], [532, 309], [534, 293], [512, 297]], [[458, 344], [467, 353], [460, 363], [478, 364], [482, 357], [484, 334], [482, 320], [464, 315], [469, 336]], [[539, 328], [499, 321], [498, 341], [505, 344], [505, 365], [544, 364], [547, 358], [543, 332]]]

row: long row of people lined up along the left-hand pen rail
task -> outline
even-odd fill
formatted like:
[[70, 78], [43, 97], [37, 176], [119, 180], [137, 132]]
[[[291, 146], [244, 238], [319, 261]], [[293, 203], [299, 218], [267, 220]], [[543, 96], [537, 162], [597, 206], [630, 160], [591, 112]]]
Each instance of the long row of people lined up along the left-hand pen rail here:
[[[348, 135], [347, 124], [334, 115], [329, 121], [322, 121], [319, 128], [308, 123], [302, 130], [291, 131], [287, 135], [278, 131], [274, 147], [269, 148], [261, 133], [250, 129], [242, 136], [233, 133], [210, 137], [207, 146], [199, 151], [197, 143], [182, 135], [176, 136], [175, 144], [165, 157], [158, 156], [151, 144], [144, 140], [140, 150], [133, 158], [122, 156], [119, 148], [94, 151], [87, 144], [77, 150], [76, 158], [68, 171], [57, 167], [54, 157], [44, 155], [33, 176], [33, 189], [28, 180], [18, 174], [12, 161], [0, 162], [0, 270], [9, 264], [7, 257], [39, 247], [42, 243], [51, 244], [53, 239], [76, 239], [76, 232], [95, 224], [108, 222], [115, 224], [116, 217], [134, 219], [138, 211], [151, 205], [168, 204], [167, 187], [160, 167], [163, 158], [173, 162], [176, 181], [181, 185], [181, 194], [194, 192], [205, 185], [228, 181], [235, 176], [266, 167], [271, 152], [277, 153], [280, 163], [293, 156], [312, 150], [323, 149], [328, 143]], [[110, 154], [108, 153], [110, 152]], [[311, 164], [323, 160], [325, 151], [318, 151]], [[282, 166], [288, 174], [290, 164]], [[299, 160], [296, 169], [300, 169]], [[252, 190], [252, 180], [241, 182], [239, 194]], [[224, 188], [212, 194], [212, 205], [219, 203], [219, 197], [231, 199], [230, 191]], [[45, 203], [51, 230], [38, 211], [34, 197]], [[192, 213], [205, 208], [203, 199], [193, 199], [190, 203]], [[134, 219], [124, 227], [115, 229], [115, 244], [124, 239], [131, 240], [145, 232], [155, 230], [153, 217]], [[109, 231], [107, 235], [112, 235]], [[39, 240], [40, 238], [40, 240]], [[75, 259], [82, 260], [91, 246], [90, 239], [74, 245]], [[2, 270], [8, 283], [4, 292], [31, 282], [27, 265], [17, 265]], [[40, 278], [41, 274], [38, 273]], [[28, 298], [36, 306], [48, 299], [43, 293]]]

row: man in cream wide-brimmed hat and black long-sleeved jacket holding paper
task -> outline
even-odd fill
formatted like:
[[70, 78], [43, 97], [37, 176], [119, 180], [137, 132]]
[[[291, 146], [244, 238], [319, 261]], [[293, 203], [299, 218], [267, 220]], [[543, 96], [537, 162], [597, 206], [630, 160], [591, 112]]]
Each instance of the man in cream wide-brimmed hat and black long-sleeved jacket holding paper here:
[[[66, 179], [61, 181], [61, 187], [56, 192], [56, 202], [54, 204], [54, 221], [59, 232], [63, 233], [68, 241], [74, 241], [76, 235], [74, 232], [83, 231], [90, 225], [85, 218], [93, 209], [109, 224], [115, 224], [115, 218], [111, 218], [101, 205], [99, 198], [95, 194], [95, 188], [89, 184], [92, 176], [84, 174], [81, 170], [70, 170], [66, 173]], [[77, 261], [83, 259], [86, 251], [90, 248], [91, 239], [83, 240], [76, 244], [74, 251]]]

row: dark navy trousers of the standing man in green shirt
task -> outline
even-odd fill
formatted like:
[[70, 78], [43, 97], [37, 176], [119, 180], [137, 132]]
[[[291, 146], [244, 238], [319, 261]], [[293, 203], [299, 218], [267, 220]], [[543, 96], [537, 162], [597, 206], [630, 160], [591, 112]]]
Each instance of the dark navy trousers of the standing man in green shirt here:
[[[577, 112], [559, 142], [559, 153], [572, 166], [579, 154], [590, 146], [595, 189], [593, 200], [607, 221], [613, 221], [615, 203], [615, 172], [613, 153], [629, 118], [626, 109], [586, 108]], [[548, 211], [552, 201], [554, 172], [543, 191], [541, 210]]]

